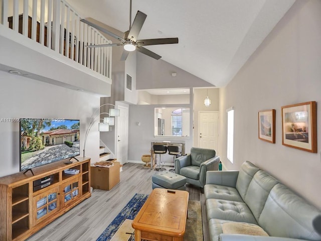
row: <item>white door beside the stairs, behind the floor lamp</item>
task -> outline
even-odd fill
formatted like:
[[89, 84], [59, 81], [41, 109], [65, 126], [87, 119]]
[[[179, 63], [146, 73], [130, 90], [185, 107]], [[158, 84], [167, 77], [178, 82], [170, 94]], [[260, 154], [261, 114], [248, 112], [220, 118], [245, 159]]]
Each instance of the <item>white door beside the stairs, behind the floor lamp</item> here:
[[117, 117], [116, 158], [123, 165], [128, 160], [128, 107], [118, 105], [117, 108], [120, 115]]

